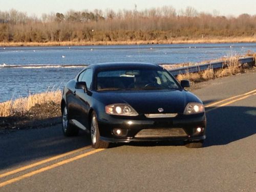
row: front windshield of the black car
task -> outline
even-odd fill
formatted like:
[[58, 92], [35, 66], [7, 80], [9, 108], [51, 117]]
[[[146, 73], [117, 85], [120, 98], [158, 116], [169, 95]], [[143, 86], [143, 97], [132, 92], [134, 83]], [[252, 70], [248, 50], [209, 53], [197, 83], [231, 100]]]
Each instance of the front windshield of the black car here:
[[180, 89], [164, 70], [111, 70], [97, 75], [97, 90], [170, 90]]

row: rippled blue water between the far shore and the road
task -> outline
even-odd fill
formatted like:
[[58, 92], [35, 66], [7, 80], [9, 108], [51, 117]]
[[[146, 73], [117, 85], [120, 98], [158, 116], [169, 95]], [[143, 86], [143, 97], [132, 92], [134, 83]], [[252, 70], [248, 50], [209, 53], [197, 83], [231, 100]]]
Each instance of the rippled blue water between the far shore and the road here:
[[256, 44], [0, 47], [0, 102], [61, 89], [83, 65], [91, 63], [200, 62], [248, 50], [255, 52]]

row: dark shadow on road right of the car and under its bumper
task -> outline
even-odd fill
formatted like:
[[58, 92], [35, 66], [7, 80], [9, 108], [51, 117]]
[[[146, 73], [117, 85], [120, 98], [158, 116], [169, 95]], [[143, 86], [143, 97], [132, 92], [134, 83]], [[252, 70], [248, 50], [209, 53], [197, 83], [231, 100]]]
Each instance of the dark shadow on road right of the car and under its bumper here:
[[[210, 110], [213, 108], [207, 108]], [[207, 129], [203, 147], [225, 145], [256, 134], [256, 108], [249, 106], [223, 106], [206, 113]], [[131, 142], [132, 146], [179, 146], [183, 142]], [[121, 146], [118, 144], [117, 146]]]

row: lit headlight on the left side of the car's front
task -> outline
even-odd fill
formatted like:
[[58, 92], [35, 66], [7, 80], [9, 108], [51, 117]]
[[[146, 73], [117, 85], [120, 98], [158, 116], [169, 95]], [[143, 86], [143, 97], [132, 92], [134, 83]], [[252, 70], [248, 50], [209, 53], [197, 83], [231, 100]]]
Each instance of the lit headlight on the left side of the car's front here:
[[106, 114], [110, 115], [139, 115], [129, 104], [110, 104], [105, 106]]

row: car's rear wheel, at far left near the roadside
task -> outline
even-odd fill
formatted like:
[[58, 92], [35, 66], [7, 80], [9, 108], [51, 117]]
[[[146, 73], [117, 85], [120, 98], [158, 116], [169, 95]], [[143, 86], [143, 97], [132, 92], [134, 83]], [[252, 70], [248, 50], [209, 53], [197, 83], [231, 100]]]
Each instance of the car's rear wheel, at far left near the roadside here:
[[70, 124], [68, 108], [65, 106], [62, 110], [62, 131], [66, 137], [77, 136], [79, 133], [78, 127]]

